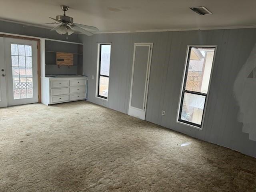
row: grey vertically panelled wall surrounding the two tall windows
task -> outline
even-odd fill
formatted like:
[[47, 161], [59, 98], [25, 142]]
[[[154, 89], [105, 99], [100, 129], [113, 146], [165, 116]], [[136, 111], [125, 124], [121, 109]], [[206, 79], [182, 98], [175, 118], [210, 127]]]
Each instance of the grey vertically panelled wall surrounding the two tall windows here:
[[[234, 80], [255, 42], [256, 29], [79, 35], [84, 43], [88, 100], [128, 113], [135, 42], [153, 42], [146, 120], [256, 157], [256, 142], [242, 132], [233, 95]], [[95, 98], [97, 42], [112, 42], [109, 98]], [[176, 123], [187, 45], [217, 45], [203, 130]], [[94, 75], [94, 80], [92, 80]], [[162, 110], [166, 115], [162, 116]], [[203, 147], [203, 146], [202, 146]]]

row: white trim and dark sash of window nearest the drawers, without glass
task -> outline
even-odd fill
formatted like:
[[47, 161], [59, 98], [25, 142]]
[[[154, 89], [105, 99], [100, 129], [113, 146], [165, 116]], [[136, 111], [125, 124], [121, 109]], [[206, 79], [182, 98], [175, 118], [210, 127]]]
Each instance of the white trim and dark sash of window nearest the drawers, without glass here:
[[[107, 75], [102, 75], [100, 74], [100, 67], [101, 67], [101, 46], [102, 45], [110, 45], [110, 63], [111, 63], [111, 43], [98, 43], [98, 59], [97, 59], [97, 80], [96, 80], [96, 97], [103, 99], [103, 100], [108, 100], [108, 96], [101, 96], [99, 94], [99, 89], [100, 89], [100, 76], [102, 77], [107, 77], [108, 78], [108, 90], [109, 90], [109, 74]], [[109, 63], [109, 73], [110, 73], [110, 63]]]

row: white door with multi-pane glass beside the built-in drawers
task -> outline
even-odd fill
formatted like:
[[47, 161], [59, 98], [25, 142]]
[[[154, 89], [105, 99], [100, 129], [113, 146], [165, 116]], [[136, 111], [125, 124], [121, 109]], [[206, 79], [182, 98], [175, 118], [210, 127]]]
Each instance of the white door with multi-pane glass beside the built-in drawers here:
[[4, 38], [7, 104], [38, 102], [37, 42]]

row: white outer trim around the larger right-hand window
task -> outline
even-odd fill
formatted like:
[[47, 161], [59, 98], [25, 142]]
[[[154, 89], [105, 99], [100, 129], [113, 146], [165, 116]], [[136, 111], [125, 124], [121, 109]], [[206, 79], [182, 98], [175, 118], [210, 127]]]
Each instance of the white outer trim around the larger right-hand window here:
[[[190, 47], [214, 47], [215, 48], [214, 56], [213, 56], [213, 61], [212, 61], [212, 69], [211, 69], [211, 74], [210, 74], [210, 81], [209, 81], [209, 84], [208, 84], [207, 97], [206, 97], [206, 101], [205, 101], [205, 105], [204, 105], [204, 113], [203, 113], [203, 117], [202, 117], [202, 125], [201, 125], [201, 127], [194, 126], [194, 125], [187, 124], [187, 123], [179, 121], [181, 98], [182, 98], [182, 90], [184, 88], [184, 80], [185, 80], [186, 70], [187, 70], [187, 66], [188, 66], [187, 62], [188, 62], [188, 54], [189, 54], [189, 48]], [[203, 130], [205, 113], [206, 113], [206, 109], [207, 109], [207, 103], [208, 103], [210, 87], [211, 87], [211, 81], [212, 81], [212, 74], [213, 74], [213, 70], [214, 70], [214, 63], [215, 63], [215, 58], [216, 58], [216, 52], [217, 52], [217, 45], [188, 45], [187, 46], [185, 64], [184, 64], [184, 68], [183, 68], [182, 84], [181, 84], [181, 88], [180, 88], [180, 97], [179, 97], [179, 102], [178, 102], [178, 112], [177, 112], [176, 123], [183, 124], [183, 125], [186, 125], [186, 126], [189, 126], [189, 127], [192, 127], [192, 128], [196, 128], [196, 129], [199, 129], [199, 130]]]

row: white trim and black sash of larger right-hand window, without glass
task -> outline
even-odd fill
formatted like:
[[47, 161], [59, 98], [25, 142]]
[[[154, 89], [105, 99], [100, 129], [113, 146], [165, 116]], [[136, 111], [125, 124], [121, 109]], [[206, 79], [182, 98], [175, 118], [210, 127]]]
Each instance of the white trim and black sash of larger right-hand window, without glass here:
[[[212, 68], [211, 68], [210, 80], [209, 80], [209, 84], [208, 84], [207, 93], [186, 90], [188, 65], [189, 65], [189, 60], [190, 60], [190, 52], [191, 52], [192, 48], [214, 48], [214, 56], [213, 56], [213, 60], [212, 60]], [[216, 52], [217, 52], [217, 45], [188, 45], [187, 46], [186, 59], [185, 59], [185, 64], [184, 64], [184, 69], [183, 69], [183, 78], [182, 78], [182, 84], [181, 84], [181, 89], [180, 89], [180, 98], [179, 98], [179, 102], [178, 102], [178, 112], [177, 112], [177, 119], [176, 119], [177, 123], [184, 124], [186, 126], [190, 126], [190, 127], [193, 127], [193, 128], [199, 129], [199, 130], [203, 129], [205, 112], [206, 112], [206, 107], [207, 107], [207, 102], [208, 102], [209, 92], [210, 92], [210, 85], [211, 85], [211, 80], [212, 80], [212, 74], [213, 74], [213, 70], [214, 70]], [[200, 125], [181, 119], [182, 104], [183, 104], [183, 101], [184, 101], [184, 94], [185, 93], [205, 96], [204, 109], [203, 109], [203, 114], [202, 114], [202, 121], [201, 121]]]

